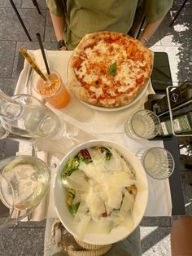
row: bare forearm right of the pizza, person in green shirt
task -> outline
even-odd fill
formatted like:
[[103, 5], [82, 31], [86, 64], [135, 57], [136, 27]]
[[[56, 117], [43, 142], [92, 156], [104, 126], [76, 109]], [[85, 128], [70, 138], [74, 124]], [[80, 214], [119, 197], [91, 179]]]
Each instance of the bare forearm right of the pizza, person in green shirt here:
[[146, 27], [143, 30], [141, 37], [139, 38], [139, 41], [141, 41], [143, 45], [146, 45], [146, 42], [150, 40], [151, 36], [159, 28], [159, 24], [161, 24], [163, 20], [164, 18], [161, 18], [153, 23], [146, 24]]

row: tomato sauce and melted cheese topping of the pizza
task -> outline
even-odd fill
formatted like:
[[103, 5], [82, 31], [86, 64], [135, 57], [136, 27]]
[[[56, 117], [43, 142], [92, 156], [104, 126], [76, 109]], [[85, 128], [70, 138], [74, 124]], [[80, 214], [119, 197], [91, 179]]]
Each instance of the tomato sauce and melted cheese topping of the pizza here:
[[[73, 59], [76, 79], [98, 103], [108, 100], [114, 104], [113, 99], [120, 95], [132, 95], [151, 75], [149, 50], [133, 38], [116, 34], [94, 38]], [[113, 64], [116, 64], [115, 73], [110, 72]]]

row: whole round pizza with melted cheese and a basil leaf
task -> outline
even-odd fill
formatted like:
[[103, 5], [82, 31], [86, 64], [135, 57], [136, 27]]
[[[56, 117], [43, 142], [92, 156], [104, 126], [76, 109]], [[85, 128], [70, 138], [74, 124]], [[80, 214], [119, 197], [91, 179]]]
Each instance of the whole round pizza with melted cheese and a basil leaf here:
[[68, 84], [78, 99], [116, 108], [130, 104], [151, 77], [153, 52], [123, 33], [89, 33], [68, 63]]

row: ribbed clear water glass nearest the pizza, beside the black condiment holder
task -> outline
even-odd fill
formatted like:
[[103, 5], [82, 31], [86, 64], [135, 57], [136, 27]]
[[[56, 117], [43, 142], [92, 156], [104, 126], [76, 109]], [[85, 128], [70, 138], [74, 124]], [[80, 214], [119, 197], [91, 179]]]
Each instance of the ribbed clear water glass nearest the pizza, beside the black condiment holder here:
[[142, 109], [124, 124], [124, 131], [132, 139], [152, 139], [159, 134], [159, 117], [151, 110]]

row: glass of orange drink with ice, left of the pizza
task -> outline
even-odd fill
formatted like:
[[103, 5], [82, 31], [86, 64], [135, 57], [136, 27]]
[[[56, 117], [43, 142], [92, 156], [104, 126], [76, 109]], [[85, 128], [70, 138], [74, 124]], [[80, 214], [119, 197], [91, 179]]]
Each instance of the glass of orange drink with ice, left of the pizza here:
[[47, 75], [46, 70], [41, 71], [45, 74], [47, 81], [44, 81], [39, 74], [34, 73], [32, 77], [33, 89], [54, 108], [64, 108], [69, 103], [70, 96], [59, 73], [51, 70], [50, 74]]

